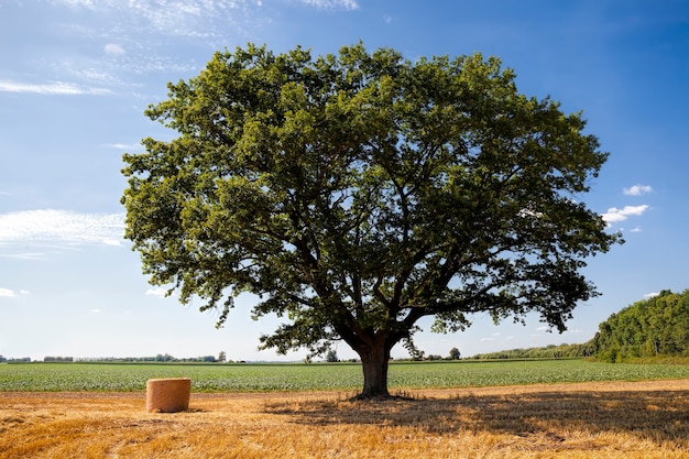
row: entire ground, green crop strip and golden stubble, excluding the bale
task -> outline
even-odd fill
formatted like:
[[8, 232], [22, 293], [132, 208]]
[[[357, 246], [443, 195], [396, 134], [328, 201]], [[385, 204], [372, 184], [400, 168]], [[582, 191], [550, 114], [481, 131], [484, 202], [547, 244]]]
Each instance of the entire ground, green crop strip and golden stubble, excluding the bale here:
[[[145, 411], [149, 378], [193, 379]], [[0, 458], [689, 458], [689, 365], [0, 364]]]

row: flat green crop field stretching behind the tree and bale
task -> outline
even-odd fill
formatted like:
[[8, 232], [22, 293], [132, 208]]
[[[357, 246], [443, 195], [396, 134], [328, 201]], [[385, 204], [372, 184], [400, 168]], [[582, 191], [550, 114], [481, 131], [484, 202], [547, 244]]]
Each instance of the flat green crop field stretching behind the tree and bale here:
[[[190, 378], [194, 391], [317, 391], [361, 389], [357, 363], [0, 364], [0, 391], [143, 391], [152, 378]], [[689, 365], [593, 363], [583, 360], [395, 362], [390, 389], [447, 389], [562, 382], [689, 378]]]

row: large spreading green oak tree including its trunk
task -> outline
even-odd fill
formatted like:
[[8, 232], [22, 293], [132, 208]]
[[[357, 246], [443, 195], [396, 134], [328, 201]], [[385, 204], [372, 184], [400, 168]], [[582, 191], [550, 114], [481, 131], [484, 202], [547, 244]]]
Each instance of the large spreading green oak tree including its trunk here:
[[538, 313], [562, 331], [597, 295], [586, 259], [619, 241], [581, 196], [608, 154], [581, 113], [520, 94], [481, 54], [405, 59], [360, 43], [311, 57], [218, 52], [146, 116], [178, 132], [125, 154], [125, 237], [155, 285], [201, 309], [260, 298], [261, 346], [343, 340], [363, 395], [420, 318], [458, 331]]

